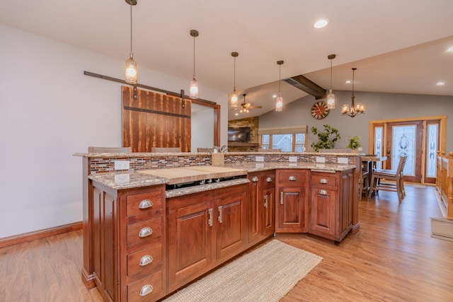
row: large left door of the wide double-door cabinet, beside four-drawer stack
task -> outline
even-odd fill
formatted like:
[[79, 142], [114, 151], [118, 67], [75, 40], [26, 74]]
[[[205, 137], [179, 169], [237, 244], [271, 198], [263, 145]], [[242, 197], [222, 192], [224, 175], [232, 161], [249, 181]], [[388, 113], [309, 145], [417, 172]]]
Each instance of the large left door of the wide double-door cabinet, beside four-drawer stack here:
[[213, 262], [214, 203], [169, 209], [167, 218], [168, 291], [173, 291]]

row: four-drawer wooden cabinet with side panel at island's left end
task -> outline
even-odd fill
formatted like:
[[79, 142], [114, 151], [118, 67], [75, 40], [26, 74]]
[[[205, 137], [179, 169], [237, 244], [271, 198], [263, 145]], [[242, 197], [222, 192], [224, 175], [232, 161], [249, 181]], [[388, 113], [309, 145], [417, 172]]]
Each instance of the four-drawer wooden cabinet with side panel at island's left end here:
[[91, 186], [95, 284], [105, 301], [154, 301], [166, 293], [164, 186]]

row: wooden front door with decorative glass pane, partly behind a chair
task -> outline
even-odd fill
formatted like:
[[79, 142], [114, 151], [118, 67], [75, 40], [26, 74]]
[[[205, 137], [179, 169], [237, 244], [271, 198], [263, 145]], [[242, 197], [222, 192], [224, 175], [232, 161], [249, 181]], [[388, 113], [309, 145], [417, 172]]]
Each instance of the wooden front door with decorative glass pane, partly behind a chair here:
[[407, 156], [404, 180], [421, 182], [423, 121], [389, 122], [386, 127], [386, 156], [389, 169], [398, 168], [399, 158]]

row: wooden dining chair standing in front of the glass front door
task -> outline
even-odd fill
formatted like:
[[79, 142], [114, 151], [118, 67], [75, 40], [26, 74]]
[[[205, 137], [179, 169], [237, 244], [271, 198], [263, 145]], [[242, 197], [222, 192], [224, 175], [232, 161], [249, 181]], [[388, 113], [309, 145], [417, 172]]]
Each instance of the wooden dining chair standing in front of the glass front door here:
[[[398, 168], [396, 170], [376, 170], [372, 173], [371, 186], [368, 192], [368, 199], [371, 198], [373, 192], [394, 191], [398, 193], [398, 201], [401, 203], [406, 196], [404, 190], [403, 170], [406, 164], [407, 156], [399, 158]], [[394, 180], [395, 183], [381, 182], [381, 180]]]

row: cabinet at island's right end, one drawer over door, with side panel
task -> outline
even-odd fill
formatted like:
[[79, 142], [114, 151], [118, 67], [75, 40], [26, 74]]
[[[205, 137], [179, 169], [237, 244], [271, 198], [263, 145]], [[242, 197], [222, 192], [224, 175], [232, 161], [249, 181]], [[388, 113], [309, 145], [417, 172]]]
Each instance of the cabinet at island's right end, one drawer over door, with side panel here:
[[311, 172], [309, 233], [336, 241], [352, 228], [353, 170]]

